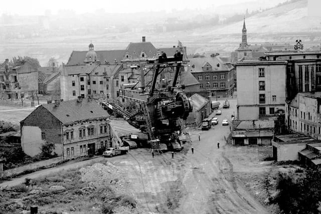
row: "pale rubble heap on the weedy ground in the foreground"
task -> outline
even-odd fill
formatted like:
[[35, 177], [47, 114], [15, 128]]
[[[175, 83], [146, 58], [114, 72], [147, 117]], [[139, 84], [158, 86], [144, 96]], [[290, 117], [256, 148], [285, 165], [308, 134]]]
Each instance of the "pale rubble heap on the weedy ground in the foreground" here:
[[90, 183], [95, 187], [109, 185], [117, 193], [125, 193], [125, 185], [128, 181], [121, 176], [123, 172], [110, 162], [106, 162], [106, 164], [95, 163], [81, 168], [80, 172], [83, 182]]

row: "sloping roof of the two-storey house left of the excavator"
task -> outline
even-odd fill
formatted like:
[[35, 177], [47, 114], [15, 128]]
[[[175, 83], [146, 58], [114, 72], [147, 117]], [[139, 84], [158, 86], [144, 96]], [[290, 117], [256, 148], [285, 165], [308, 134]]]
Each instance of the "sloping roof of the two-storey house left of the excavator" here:
[[40, 107], [47, 109], [62, 123], [109, 117], [107, 111], [101, 108], [95, 100], [83, 99], [82, 102], [69, 100], [60, 102], [58, 106], [55, 103], [51, 103], [43, 104]]

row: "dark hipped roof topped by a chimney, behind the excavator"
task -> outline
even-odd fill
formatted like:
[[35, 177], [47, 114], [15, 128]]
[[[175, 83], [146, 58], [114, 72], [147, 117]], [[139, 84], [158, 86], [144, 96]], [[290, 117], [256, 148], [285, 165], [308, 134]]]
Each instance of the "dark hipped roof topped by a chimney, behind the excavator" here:
[[[130, 57], [140, 57], [144, 51], [145, 57], [154, 57], [157, 54], [156, 48], [150, 42], [129, 43], [125, 50], [125, 55]], [[174, 55], [173, 55], [174, 56]]]

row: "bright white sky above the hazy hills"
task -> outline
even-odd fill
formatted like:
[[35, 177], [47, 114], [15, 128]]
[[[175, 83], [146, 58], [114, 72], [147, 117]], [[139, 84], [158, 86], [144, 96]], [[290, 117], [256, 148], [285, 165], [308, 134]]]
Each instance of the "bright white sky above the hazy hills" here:
[[[9, 15], [45, 15], [46, 10], [56, 14], [59, 10], [73, 10], [77, 14], [91, 13], [103, 9], [106, 13], [133, 13], [144, 11], [167, 11], [184, 9], [206, 9], [233, 5], [236, 3], [251, 2], [253, 0], [15, 0], [3, 1], [0, 14]], [[285, 0], [261, 0], [261, 2], [281, 3]]]

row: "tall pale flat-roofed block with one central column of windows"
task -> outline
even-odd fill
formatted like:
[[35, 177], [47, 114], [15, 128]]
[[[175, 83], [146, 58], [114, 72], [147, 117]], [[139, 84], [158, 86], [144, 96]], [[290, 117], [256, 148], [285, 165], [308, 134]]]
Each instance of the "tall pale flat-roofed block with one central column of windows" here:
[[248, 59], [235, 64], [237, 116], [258, 120], [284, 112], [287, 61]]

